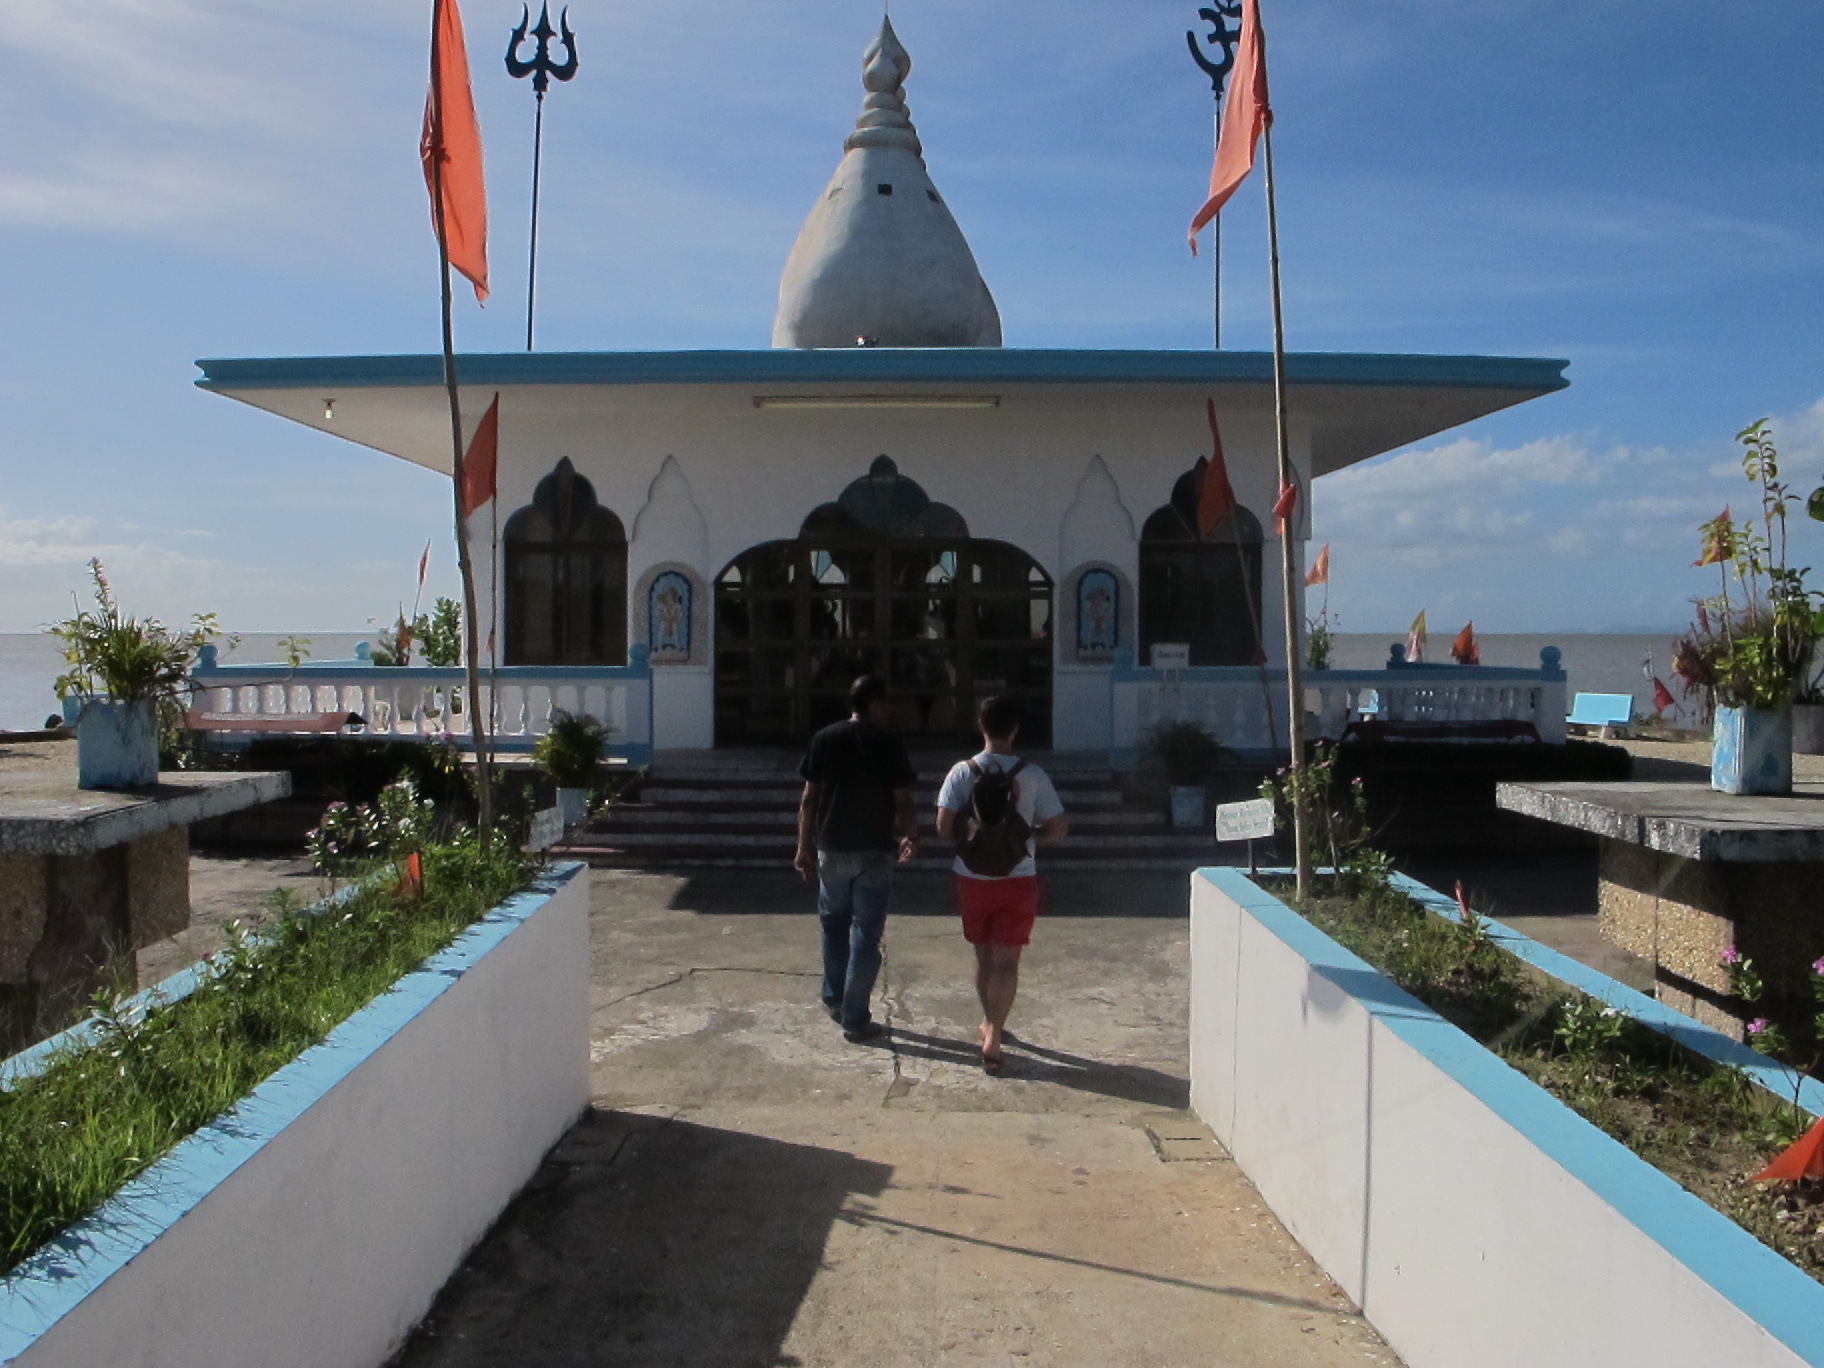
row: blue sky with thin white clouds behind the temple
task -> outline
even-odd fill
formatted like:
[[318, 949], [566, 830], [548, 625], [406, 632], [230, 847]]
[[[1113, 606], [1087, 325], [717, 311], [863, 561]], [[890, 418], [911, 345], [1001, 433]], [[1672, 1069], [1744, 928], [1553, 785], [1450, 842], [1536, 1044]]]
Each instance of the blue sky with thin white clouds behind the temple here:
[[[0, 0], [0, 631], [84, 562], [128, 609], [361, 629], [449, 491], [202, 394], [197, 358], [434, 352], [418, 166], [429, 0]], [[1771, 418], [1824, 480], [1815, 0], [1262, 0], [1293, 350], [1538, 356], [1570, 389], [1317, 482], [1344, 631], [1673, 631], [1713, 587]], [[540, 350], [766, 347], [779, 270], [859, 109], [877, 4], [573, 0], [545, 117]], [[520, 18], [463, 0], [496, 295], [523, 347]], [[897, 0], [932, 177], [1009, 347], [1211, 343], [1211, 95], [1164, 0]], [[1224, 212], [1224, 345], [1266, 348], [1259, 181]], [[1824, 523], [1793, 523], [1824, 576]], [[1819, 580], [1824, 584], [1824, 578]]]

